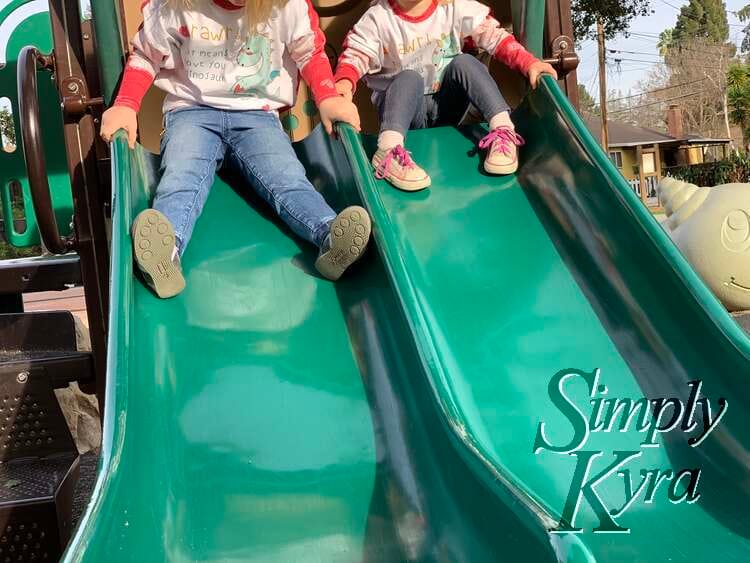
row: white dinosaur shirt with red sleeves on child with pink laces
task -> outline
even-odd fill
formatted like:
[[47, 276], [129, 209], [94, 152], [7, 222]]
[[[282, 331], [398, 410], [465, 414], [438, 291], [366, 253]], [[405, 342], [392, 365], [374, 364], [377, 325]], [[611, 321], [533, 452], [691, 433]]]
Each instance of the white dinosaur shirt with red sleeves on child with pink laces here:
[[433, 0], [420, 16], [405, 14], [396, 0], [377, 0], [347, 35], [336, 80], [356, 86], [364, 78], [377, 95], [410, 69], [424, 79], [424, 93], [432, 94], [451, 59], [467, 47], [479, 47], [523, 74], [537, 61], [475, 0]]

